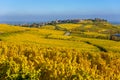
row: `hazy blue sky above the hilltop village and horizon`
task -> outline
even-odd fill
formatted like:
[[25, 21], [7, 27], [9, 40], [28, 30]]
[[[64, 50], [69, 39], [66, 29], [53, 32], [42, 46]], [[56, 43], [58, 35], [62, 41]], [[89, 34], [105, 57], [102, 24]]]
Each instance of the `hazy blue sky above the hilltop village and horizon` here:
[[100, 17], [120, 21], [120, 0], [1, 0], [0, 20]]

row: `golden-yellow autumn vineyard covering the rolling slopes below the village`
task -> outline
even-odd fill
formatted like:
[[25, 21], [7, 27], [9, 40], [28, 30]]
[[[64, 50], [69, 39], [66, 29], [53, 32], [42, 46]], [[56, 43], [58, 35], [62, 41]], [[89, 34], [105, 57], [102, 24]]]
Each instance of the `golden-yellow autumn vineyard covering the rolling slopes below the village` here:
[[0, 24], [0, 80], [120, 80], [120, 42], [109, 40], [110, 29], [120, 30], [108, 23]]

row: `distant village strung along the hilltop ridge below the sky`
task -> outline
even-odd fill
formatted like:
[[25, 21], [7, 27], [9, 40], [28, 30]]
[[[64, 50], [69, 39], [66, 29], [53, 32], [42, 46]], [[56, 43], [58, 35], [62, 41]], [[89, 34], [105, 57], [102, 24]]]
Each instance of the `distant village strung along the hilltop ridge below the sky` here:
[[40, 23], [32, 23], [32, 24], [17, 24], [18, 26], [23, 27], [36, 27], [40, 28], [45, 25], [55, 25], [55, 24], [64, 24], [64, 23], [80, 23], [82, 21], [92, 21], [92, 22], [107, 22], [107, 20], [95, 18], [95, 19], [67, 19], [67, 20], [55, 20], [55, 21], [49, 21], [49, 22], [40, 22]]

